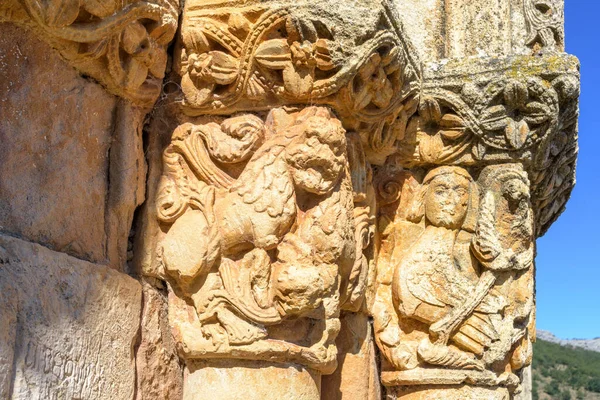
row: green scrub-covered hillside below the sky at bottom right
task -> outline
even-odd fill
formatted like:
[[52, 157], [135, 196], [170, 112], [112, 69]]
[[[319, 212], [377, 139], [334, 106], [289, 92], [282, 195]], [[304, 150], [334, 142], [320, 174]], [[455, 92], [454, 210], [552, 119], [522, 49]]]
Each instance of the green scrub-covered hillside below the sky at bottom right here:
[[533, 350], [533, 400], [600, 400], [600, 353], [551, 343], [539, 331]]

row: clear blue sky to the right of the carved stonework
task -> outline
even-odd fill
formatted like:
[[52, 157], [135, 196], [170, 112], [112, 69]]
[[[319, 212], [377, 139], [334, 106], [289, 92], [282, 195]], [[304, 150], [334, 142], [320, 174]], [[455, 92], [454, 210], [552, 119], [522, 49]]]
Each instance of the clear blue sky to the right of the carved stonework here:
[[538, 239], [537, 327], [562, 338], [600, 336], [599, 0], [565, 0], [566, 51], [581, 62], [577, 185]]

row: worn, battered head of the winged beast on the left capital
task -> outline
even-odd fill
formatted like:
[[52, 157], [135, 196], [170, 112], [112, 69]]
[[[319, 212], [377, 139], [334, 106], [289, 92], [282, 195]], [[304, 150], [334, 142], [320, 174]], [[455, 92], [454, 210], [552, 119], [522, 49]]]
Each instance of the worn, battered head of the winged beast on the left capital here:
[[313, 107], [303, 116], [298, 138], [286, 149], [290, 173], [297, 187], [324, 195], [339, 182], [346, 163], [346, 131], [326, 108]]

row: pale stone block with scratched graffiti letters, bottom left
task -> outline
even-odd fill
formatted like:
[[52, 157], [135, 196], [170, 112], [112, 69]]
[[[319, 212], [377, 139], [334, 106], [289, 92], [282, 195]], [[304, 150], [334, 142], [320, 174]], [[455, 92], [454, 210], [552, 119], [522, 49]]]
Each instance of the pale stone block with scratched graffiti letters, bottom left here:
[[0, 380], [3, 394], [15, 400], [132, 399], [139, 283], [19, 239], [1, 236], [0, 248], [0, 292], [15, 294], [0, 307], [0, 357], [9, 359], [13, 351], [12, 371]]

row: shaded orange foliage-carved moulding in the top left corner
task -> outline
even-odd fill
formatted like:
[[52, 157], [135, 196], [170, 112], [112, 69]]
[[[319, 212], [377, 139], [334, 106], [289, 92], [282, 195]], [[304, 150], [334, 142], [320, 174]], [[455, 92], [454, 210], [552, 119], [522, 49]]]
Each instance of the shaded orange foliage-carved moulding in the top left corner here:
[[150, 107], [162, 89], [178, 0], [12, 0], [0, 21], [33, 29], [82, 74]]

